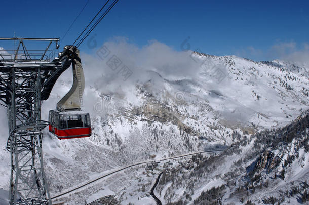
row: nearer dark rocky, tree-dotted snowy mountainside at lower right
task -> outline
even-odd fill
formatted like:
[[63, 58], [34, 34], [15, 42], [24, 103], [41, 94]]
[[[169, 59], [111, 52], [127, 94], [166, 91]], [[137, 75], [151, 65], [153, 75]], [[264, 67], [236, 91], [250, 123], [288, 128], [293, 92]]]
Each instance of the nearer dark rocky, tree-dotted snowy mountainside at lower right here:
[[[233, 136], [242, 139], [224, 152], [196, 155], [182, 166], [165, 170], [158, 196], [165, 204], [306, 203], [308, 131], [306, 111], [283, 128], [250, 138], [234, 132]], [[192, 168], [183, 169], [183, 165]]]

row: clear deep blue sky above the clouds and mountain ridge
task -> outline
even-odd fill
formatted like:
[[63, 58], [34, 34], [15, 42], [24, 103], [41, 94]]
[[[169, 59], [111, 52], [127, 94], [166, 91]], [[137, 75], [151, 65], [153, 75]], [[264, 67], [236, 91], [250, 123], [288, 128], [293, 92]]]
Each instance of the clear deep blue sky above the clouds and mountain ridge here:
[[[3, 1], [0, 36], [61, 38], [86, 2]], [[61, 46], [74, 42], [104, 2], [90, 0]], [[87, 40], [101, 45], [120, 36], [139, 47], [158, 40], [180, 51], [189, 36], [191, 50], [272, 60], [308, 49], [308, 8], [308, 1], [119, 0]], [[87, 40], [80, 49], [92, 53]]]

